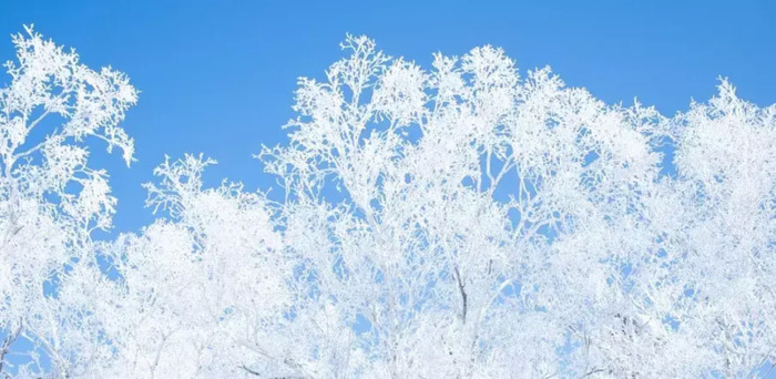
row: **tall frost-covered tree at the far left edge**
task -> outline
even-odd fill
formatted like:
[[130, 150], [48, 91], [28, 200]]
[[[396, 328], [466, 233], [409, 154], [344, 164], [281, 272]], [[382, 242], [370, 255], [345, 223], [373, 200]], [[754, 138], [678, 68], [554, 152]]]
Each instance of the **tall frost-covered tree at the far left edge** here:
[[32, 28], [12, 40], [17, 61], [0, 88], [0, 373], [78, 376], [110, 357], [89, 311], [104, 279], [91, 234], [111, 226], [115, 198], [108, 173], [88, 165], [86, 141], [104, 140], [130, 164], [119, 124], [136, 91]]

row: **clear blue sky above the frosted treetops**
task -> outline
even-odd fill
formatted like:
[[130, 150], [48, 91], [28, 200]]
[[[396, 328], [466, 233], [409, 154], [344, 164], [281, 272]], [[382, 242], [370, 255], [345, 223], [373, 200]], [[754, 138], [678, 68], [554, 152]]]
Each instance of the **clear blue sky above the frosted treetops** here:
[[[272, 181], [252, 157], [284, 141], [296, 78], [320, 76], [346, 32], [428, 64], [435, 51], [503, 47], [521, 71], [552, 65], [568, 84], [606, 102], [634, 96], [671, 115], [706, 100], [717, 75], [759, 105], [776, 102], [776, 1], [259, 2], [21, 1], [0, 3], [0, 60], [23, 23], [111, 64], [142, 91], [124, 123], [131, 168], [94, 151], [119, 197], [118, 231], [151, 221], [141, 183], [164, 154], [204, 152], [207, 177], [248, 188]], [[0, 79], [0, 83], [8, 78]]]

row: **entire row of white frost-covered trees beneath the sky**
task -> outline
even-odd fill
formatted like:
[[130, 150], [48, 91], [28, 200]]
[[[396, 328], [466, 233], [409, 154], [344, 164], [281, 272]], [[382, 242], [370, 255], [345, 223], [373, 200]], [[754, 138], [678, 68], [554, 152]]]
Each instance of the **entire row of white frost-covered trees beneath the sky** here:
[[[3, 354], [41, 358], [3, 373], [697, 378], [776, 360], [776, 106], [726, 80], [665, 117], [549, 68], [521, 78], [497, 48], [422, 69], [348, 37], [299, 80], [288, 143], [259, 154], [279, 201], [167, 158], [146, 184], [157, 221], [94, 244], [114, 199], [82, 140], [129, 163], [135, 92], [32, 32], [14, 43], [0, 329]], [[62, 125], [27, 142], [49, 113]]]

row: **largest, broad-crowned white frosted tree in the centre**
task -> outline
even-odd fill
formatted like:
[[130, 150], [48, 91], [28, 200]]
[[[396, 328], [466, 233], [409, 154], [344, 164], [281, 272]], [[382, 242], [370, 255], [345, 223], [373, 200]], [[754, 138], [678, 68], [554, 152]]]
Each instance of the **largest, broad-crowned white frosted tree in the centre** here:
[[[622, 266], [654, 253], [645, 208], [663, 120], [565, 89], [549, 69], [521, 81], [490, 47], [438, 54], [430, 72], [365, 38], [345, 48], [325, 82], [302, 80], [290, 146], [264, 152], [289, 194], [297, 299], [319, 332], [302, 355], [312, 370], [611, 366], [619, 315], [636, 316]], [[595, 345], [575, 346], [585, 339]]]

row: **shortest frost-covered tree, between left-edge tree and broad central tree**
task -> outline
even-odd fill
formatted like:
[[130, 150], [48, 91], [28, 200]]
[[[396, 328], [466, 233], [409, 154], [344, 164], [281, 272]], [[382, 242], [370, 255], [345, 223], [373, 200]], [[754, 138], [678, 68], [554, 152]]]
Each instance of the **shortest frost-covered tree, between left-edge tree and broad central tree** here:
[[[187, 155], [156, 168], [149, 205], [166, 216], [108, 246], [121, 278], [104, 308], [116, 361], [111, 377], [234, 378], [290, 369], [280, 351], [293, 266], [263, 194], [223, 183], [215, 163]], [[288, 344], [282, 344], [288, 342]]]

